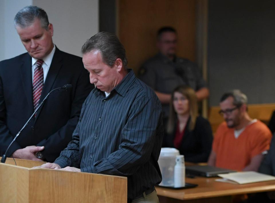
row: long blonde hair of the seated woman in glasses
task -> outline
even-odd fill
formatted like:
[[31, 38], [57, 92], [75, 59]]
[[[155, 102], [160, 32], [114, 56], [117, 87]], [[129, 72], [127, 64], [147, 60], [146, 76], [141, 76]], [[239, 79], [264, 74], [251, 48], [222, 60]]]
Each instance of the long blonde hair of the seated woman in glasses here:
[[167, 133], [172, 133], [174, 130], [175, 122], [176, 122], [176, 111], [174, 109], [173, 100], [174, 100], [174, 93], [179, 92], [180, 94], [184, 95], [189, 103], [189, 115], [190, 115], [190, 123], [189, 129], [193, 130], [196, 124], [196, 119], [198, 116], [198, 101], [196, 92], [189, 86], [181, 85], [176, 87], [171, 96], [170, 100], [170, 111], [167, 123]]

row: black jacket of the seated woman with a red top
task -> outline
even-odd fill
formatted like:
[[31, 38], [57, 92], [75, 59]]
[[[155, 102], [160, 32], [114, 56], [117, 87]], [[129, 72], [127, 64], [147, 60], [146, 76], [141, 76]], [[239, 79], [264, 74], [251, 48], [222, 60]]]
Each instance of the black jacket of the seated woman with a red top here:
[[[207, 162], [211, 151], [213, 135], [210, 123], [203, 117], [197, 117], [195, 128], [189, 129], [190, 117], [186, 124], [185, 133], [182, 138], [180, 154], [184, 155], [185, 161], [199, 163]], [[174, 132], [164, 136], [163, 147], [175, 147], [174, 137], [176, 133], [177, 121], [174, 126]]]

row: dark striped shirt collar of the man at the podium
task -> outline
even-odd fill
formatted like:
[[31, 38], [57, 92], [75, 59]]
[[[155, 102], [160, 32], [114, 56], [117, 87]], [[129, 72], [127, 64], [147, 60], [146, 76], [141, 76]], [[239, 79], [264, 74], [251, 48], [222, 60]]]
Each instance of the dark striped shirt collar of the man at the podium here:
[[[133, 72], [133, 70], [127, 69], [127, 71], [128, 71], [128, 74], [121, 80], [121, 82], [117, 86], [115, 86], [115, 88], [113, 88], [113, 90], [111, 91], [111, 94], [115, 90], [121, 96], [125, 96], [132, 82], [135, 80], [135, 73]], [[102, 92], [100, 89], [98, 88], [96, 89], [97, 91]], [[104, 94], [104, 92], [102, 93]]]

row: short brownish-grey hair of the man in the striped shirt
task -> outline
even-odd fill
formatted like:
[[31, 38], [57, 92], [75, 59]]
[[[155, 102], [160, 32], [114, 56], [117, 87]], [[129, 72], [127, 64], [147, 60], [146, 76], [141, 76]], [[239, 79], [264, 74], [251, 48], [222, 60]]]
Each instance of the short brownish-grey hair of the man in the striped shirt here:
[[99, 32], [83, 44], [82, 54], [93, 50], [101, 52], [102, 60], [105, 64], [112, 67], [117, 58], [120, 58], [124, 69], [127, 69], [127, 58], [123, 45], [117, 36], [110, 32]]

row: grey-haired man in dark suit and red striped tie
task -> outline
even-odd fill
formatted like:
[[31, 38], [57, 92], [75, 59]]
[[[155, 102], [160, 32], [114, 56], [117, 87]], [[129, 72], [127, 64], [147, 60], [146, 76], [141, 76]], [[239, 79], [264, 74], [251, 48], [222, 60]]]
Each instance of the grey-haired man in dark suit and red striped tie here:
[[14, 24], [28, 53], [0, 62], [0, 155], [52, 89], [72, 84], [48, 97], [7, 152], [7, 157], [54, 161], [71, 141], [93, 86], [82, 59], [53, 44], [53, 26], [43, 9], [21, 9]]

